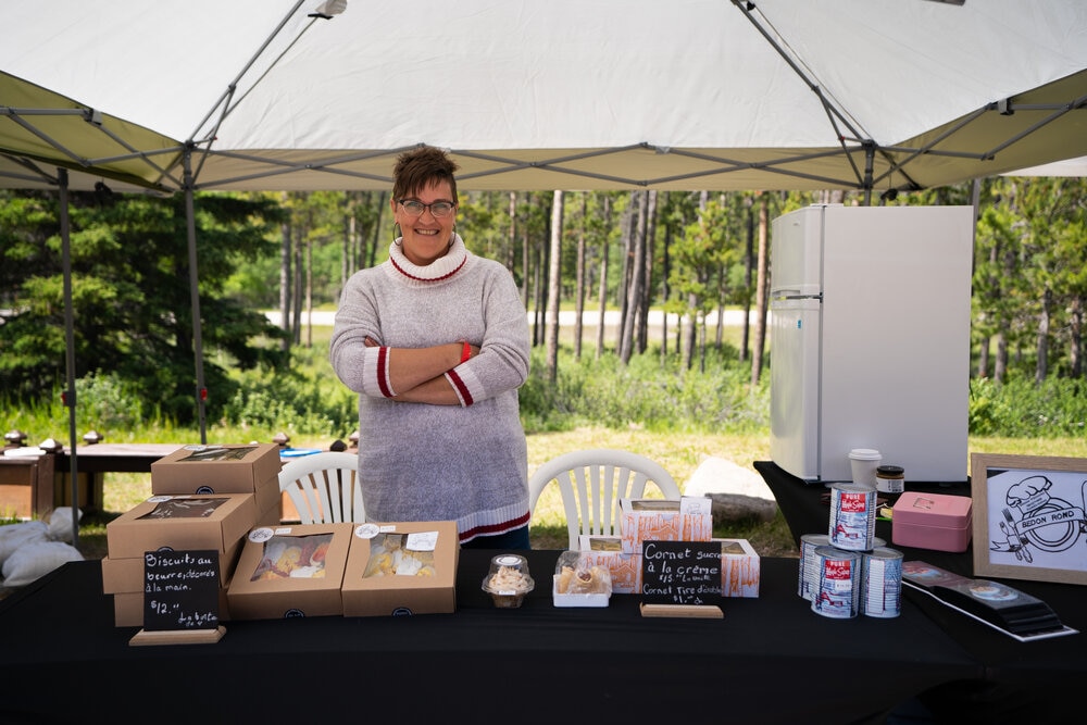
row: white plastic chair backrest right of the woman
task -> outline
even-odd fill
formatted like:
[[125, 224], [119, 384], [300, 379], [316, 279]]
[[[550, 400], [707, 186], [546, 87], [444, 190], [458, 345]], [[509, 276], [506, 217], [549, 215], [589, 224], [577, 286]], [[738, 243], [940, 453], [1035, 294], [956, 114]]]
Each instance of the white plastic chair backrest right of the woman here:
[[544, 463], [528, 479], [528, 507], [536, 511], [540, 493], [552, 482], [562, 492], [570, 549], [579, 534], [619, 536], [621, 499], [645, 498], [652, 482], [665, 499], [679, 500], [679, 487], [655, 461], [611, 448], [564, 453]]

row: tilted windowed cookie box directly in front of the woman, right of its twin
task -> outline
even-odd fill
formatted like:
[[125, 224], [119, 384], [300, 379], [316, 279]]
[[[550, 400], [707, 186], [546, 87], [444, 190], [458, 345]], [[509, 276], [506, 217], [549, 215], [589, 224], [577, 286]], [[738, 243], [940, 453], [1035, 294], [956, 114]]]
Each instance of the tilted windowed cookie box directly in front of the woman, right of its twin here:
[[343, 574], [345, 616], [457, 610], [457, 522], [359, 524]]

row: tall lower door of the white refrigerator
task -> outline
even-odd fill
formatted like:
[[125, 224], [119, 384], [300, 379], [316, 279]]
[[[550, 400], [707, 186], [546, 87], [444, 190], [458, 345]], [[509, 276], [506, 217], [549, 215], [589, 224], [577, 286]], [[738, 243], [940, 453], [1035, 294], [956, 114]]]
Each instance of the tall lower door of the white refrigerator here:
[[819, 478], [820, 301], [770, 307], [770, 455], [805, 480]]

